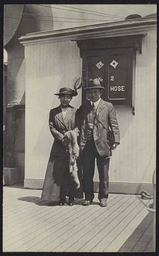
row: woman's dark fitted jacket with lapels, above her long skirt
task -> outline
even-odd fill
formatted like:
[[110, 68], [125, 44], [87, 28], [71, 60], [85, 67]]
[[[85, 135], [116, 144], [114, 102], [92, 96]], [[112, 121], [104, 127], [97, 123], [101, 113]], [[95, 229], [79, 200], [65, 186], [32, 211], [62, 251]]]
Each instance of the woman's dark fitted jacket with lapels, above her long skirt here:
[[57, 108], [50, 110], [49, 128], [51, 134], [55, 139], [51, 148], [50, 155], [59, 157], [66, 156], [66, 147], [61, 143], [61, 140], [67, 131], [74, 129], [76, 112], [76, 108], [74, 108], [71, 105], [68, 105], [66, 117], [64, 119], [61, 106], [58, 106]]

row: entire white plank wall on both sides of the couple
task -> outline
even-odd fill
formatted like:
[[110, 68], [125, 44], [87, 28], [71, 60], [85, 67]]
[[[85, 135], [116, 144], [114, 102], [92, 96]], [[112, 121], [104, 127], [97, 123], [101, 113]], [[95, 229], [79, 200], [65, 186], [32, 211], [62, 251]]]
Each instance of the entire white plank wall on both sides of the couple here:
[[[121, 143], [113, 152], [110, 181], [152, 183], [155, 167], [156, 32], [143, 37], [142, 54], [137, 51], [135, 74], [135, 116], [130, 106], [115, 106]], [[61, 87], [72, 87], [82, 75], [82, 58], [76, 42], [49, 42], [25, 47], [26, 123], [25, 179], [44, 179], [53, 142], [48, 128], [51, 108], [59, 104], [54, 96]], [[81, 90], [71, 101], [79, 107]], [[97, 168], [94, 180], [98, 181]]]

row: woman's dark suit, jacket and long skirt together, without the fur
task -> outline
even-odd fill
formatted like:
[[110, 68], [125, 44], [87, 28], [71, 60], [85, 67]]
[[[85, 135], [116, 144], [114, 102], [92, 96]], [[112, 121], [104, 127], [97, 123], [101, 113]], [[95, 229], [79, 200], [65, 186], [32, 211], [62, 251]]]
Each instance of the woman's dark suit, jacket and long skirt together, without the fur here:
[[[62, 144], [61, 140], [67, 131], [74, 129], [76, 112], [76, 108], [68, 105], [66, 117], [64, 119], [61, 106], [50, 110], [49, 128], [52, 136], [54, 137], [54, 142], [52, 144], [46, 169], [42, 199], [55, 201], [60, 199], [60, 186], [62, 182], [65, 182], [66, 169], [67, 172], [69, 171], [66, 147]], [[77, 131], [76, 135], [78, 136]], [[80, 159], [77, 160], [77, 167], [78, 179], [82, 184], [82, 166]], [[76, 190], [73, 180], [70, 180], [69, 184], [71, 185], [71, 188], [69, 188], [68, 196], [83, 198], [82, 185]]]

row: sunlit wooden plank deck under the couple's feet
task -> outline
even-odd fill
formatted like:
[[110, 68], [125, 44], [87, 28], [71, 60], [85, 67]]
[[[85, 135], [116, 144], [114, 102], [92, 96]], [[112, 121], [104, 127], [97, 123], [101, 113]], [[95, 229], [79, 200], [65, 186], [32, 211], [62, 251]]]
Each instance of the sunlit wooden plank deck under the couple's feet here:
[[152, 251], [152, 200], [111, 194], [108, 206], [100, 207], [96, 194], [92, 205], [82, 203], [59, 206], [41, 200], [41, 190], [4, 186], [3, 251]]

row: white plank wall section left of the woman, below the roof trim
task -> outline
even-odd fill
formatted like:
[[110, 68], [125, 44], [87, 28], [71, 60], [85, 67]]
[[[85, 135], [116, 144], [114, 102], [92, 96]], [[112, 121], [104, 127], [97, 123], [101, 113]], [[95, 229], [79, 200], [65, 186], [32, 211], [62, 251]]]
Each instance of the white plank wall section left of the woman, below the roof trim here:
[[[49, 111], [60, 104], [54, 93], [82, 76], [82, 59], [71, 41], [25, 47], [25, 58], [25, 179], [44, 179], [53, 142]], [[80, 106], [81, 92], [71, 103]]]

